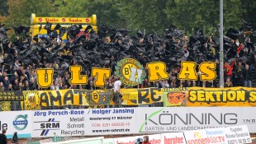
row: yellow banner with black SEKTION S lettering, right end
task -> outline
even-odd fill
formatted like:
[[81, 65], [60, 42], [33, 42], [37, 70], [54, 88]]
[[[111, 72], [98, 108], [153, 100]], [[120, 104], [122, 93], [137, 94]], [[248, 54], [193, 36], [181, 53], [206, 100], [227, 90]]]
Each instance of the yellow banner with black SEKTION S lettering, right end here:
[[247, 87], [188, 88], [188, 106], [256, 106], [256, 89]]

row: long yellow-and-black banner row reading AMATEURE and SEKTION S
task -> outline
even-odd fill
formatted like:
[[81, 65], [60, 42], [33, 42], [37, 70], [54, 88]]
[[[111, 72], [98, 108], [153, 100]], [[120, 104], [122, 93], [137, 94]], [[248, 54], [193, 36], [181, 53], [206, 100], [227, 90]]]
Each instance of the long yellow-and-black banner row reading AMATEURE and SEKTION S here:
[[[256, 89], [247, 87], [202, 88], [145, 88], [121, 89], [122, 105], [151, 105], [164, 103], [171, 106], [256, 106]], [[112, 90], [59, 90], [0, 92], [0, 108], [39, 110], [50, 106], [114, 105]]]

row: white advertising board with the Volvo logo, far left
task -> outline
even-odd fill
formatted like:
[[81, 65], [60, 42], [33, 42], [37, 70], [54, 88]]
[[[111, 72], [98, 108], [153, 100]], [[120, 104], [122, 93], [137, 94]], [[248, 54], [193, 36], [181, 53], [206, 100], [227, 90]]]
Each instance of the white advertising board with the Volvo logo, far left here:
[[18, 137], [31, 137], [32, 111], [0, 112], [0, 132], [7, 129], [7, 138], [17, 132]]

